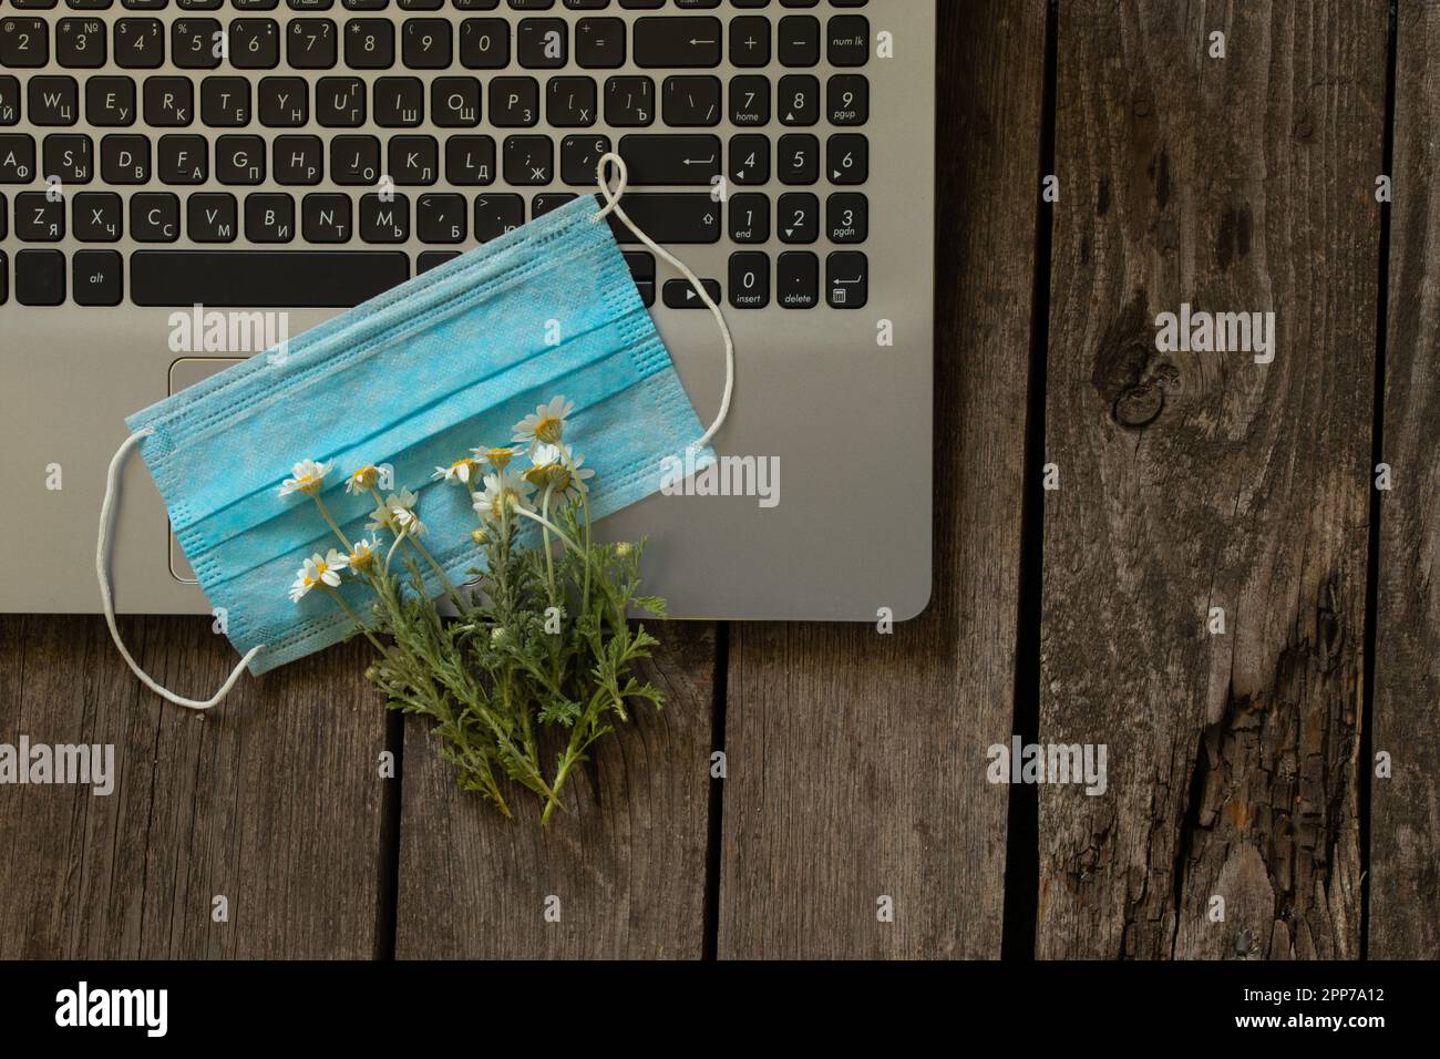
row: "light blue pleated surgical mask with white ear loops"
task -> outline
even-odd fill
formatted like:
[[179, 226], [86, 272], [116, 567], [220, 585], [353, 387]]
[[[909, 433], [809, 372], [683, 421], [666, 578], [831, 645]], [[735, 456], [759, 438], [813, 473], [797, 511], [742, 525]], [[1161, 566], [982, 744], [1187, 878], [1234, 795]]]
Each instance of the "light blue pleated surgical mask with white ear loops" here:
[[[376, 504], [346, 490], [346, 473], [386, 465], [393, 491], [419, 497], [415, 513], [429, 550], [456, 584], [480, 562], [469, 537], [474, 510], [465, 490], [432, 473], [475, 447], [510, 444], [513, 424], [556, 395], [575, 403], [566, 429], [595, 470], [595, 517], [657, 491], [662, 461], [687, 448], [698, 447], [701, 463], [714, 460], [707, 447], [714, 428], [701, 431], [602, 220], [615, 212], [629, 223], [618, 207], [619, 169], [621, 186], [603, 190], [603, 209], [583, 196], [125, 421], [132, 435], [111, 465], [96, 569], [115, 644], [137, 676], [171, 702], [204, 707], [246, 664], [265, 673], [351, 630], [323, 594], [292, 602], [285, 591], [301, 559], [333, 546], [307, 497], [278, 496], [297, 460], [333, 463], [320, 496], [350, 540], [366, 536]], [[733, 373], [729, 333], [706, 301], [721, 323]], [[209, 702], [158, 687], [115, 631], [105, 536], [114, 483], [134, 445], [200, 588], [225, 609], [228, 635], [245, 656]], [[438, 595], [439, 578], [429, 576]]]

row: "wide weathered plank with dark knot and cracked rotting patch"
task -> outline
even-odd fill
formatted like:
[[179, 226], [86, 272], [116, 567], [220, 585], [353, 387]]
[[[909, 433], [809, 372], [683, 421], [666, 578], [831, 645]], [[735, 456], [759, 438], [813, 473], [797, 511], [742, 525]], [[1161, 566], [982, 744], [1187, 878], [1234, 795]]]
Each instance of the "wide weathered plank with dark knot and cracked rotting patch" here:
[[[1359, 954], [1385, 35], [1060, 6], [1040, 738], [1109, 790], [1041, 790], [1043, 957]], [[1274, 363], [1158, 354], [1182, 301], [1274, 311]]]

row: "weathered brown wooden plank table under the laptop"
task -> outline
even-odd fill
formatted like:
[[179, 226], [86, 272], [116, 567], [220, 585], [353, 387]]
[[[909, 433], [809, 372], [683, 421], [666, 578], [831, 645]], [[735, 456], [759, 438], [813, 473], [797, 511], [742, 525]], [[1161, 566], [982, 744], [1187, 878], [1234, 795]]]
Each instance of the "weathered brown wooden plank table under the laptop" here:
[[[1440, 955], [1440, 4], [940, 6], [930, 609], [667, 627], [670, 707], [544, 834], [357, 647], [200, 718], [4, 617], [0, 741], [125, 767], [0, 788], [0, 957]], [[1274, 363], [1156, 353], [1182, 301], [1273, 310]], [[122, 625], [170, 686], [232, 663]], [[1012, 730], [1107, 792], [988, 782]]]

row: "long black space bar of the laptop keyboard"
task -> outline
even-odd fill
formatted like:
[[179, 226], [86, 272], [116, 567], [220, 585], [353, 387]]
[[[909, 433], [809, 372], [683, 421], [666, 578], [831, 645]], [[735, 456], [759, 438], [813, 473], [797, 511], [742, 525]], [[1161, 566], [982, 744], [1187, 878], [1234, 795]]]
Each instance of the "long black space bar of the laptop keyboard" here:
[[402, 284], [397, 251], [135, 251], [137, 305], [348, 308]]

